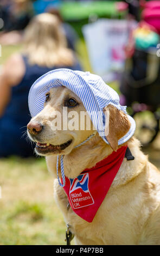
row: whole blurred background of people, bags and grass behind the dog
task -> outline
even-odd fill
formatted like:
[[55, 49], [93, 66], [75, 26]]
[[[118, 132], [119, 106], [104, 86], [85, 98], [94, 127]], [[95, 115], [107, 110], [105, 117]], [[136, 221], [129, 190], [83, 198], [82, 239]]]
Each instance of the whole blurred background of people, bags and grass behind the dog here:
[[56, 68], [103, 77], [160, 169], [160, 1], [0, 1], [0, 245], [65, 245], [53, 178], [27, 138], [28, 93]]

